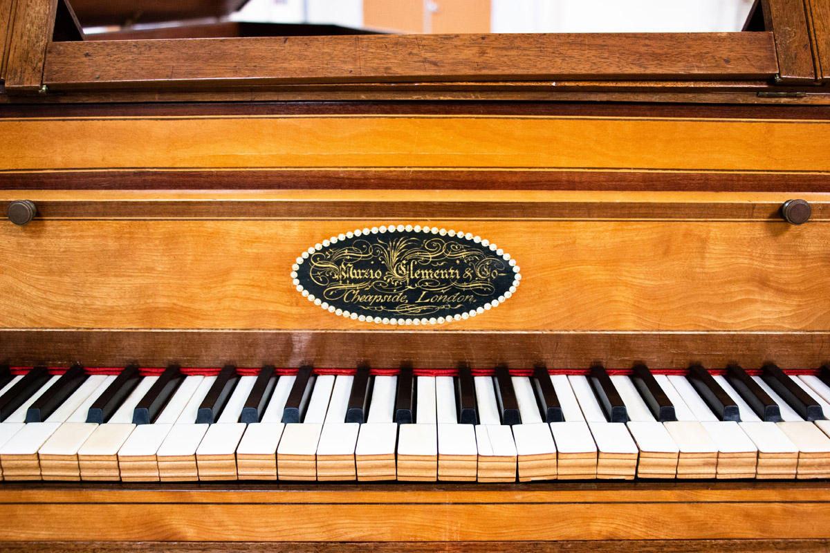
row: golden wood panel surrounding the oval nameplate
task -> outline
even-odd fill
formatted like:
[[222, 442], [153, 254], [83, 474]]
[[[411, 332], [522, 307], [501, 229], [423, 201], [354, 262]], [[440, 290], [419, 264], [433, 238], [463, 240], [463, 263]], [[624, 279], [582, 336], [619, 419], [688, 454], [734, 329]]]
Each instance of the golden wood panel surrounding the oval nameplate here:
[[291, 283], [291, 264], [333, 235], [419, 222], [491, 240], [523, 275], [503, 305], [447, 330], [821, 331], [830, 325], [830, 298], [815, 278], [830, 266], [830, 226], [823, 221], [795, 227], [765, 220], [415, 217], [5, 223], [0, 324], [378, 329], [310, 303]]

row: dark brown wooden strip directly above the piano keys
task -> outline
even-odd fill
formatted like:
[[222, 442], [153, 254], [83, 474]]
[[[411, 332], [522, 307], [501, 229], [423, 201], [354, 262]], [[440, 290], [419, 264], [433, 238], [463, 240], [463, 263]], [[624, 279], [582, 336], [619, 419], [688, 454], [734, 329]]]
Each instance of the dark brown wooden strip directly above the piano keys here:
[[234, 331], [2, 329], [0, 362], [13, 366], [372, 366], [442, 368], [466, 362], [611, 369], [637, 363], [685, 369], [693, 363], [747, 368], [774, 362], [811, 368], [830, 362], [830, 332]]

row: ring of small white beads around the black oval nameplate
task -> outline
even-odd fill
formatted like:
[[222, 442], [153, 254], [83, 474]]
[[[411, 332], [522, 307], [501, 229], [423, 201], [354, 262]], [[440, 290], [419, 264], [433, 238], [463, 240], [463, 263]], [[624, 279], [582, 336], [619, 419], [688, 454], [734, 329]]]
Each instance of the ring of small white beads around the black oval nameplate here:
[[[491, 251], [495, 251], [496, 255], [500, 255], [502, 259], [510, 264], [510, 267], [513, 268], [513, 272], [515, 273], [515, 277], [513, 279], [513, 284], [510, 286], [510, 289], [505, 292], [503, 295], [499, 296], [499, 298], [492, 300], [489, 303], [485, 303], [479, 308], [471, 309], [465, 313], [457, 313], [452, 317], [438, 317], [438, 318], [380, 318], [380, 317], [367, 317], [366, 315], [358, 315], [357, 313], [350, 313], [349, 311], [345, 311], [344, 309], [334, 308], [333, 305], [329, 305], [328, 303], [322, 301], [320, 298], [315, 298], [314, 294], [309, 293], [308, 290], [304, 289], [302, 284], [300, 284], [300, 280], [297, 279], [297, 271], [300, 270], [300, 264], [303, 261], [307, 260], [310, 254], [313, 254], [315, 251], [320, 251], [325, 247], [328, 247], [332, 244], [337, 244], [340, 240], [346, 240], [347, 238], [354, 238], [354, 236], [362, 236], [362, 235], [369, 235], [369, 234], [384, 234], [386, 232], [423, 232], [424, 234], [433, 234], [433, 235], [450, 235], [450, 236], [458, 236], [459, 238], [465, 238], [466, 240], [470, 240], [471, 242], [475, 242], [476, 244], [481, 244], [485, 247], [489, 247]], [[471, 317], [475, 317], [478, 314], [484, 313], [485, 311], [489, 311], [492, 308], [495, 308], [500, 303], [504, 303], [507, 298], [512, 296], [516, 289], [519, 288], [521, 274], [519, 272], [519, 265], [516, 264], [515, 260], [510, 257], [510, 254], [505, 254], [504, 250], [501, 250], [496, 244], [493, 244], [490, 240], [484, 240], [481, 236], [474, 236], [471, 232], [461, 232], [461, 230], [447, 230], [447, 229], [439, 229], [437, 226], [412, 226], [412, 225], [390, 225], [390, 226], [373, 226], [372, 228], [366, 227], [364, 229], [355, 229], [351, 232], [347, 232], [345, 234], [339, 234], [336, 236], [332, 236], [329, 240], [323, 240], [319, 244], [315, 244], [313, 247], [305, 250], [300, 257], [295, 260], [295, 264], [291, 265], [291, 279], [294, 283], [297, 292], [303, 294], [305, 298], [307, 298], [311, 303], [314, 303], [320, 308], [323, 308], [325, 311], [329, 313], [334, 313], [335, 315], [339, 315], [341, 317], [350, 318], [355, 321], [360, 322], [368, 322], [368, 323], [376, 323], [376, 324], [394, 324], [394, 325], [426, 325], [426, 324], [442, 324], [442, 323], [451, 323], [452, 321], [461, 321], [466, 320]]]

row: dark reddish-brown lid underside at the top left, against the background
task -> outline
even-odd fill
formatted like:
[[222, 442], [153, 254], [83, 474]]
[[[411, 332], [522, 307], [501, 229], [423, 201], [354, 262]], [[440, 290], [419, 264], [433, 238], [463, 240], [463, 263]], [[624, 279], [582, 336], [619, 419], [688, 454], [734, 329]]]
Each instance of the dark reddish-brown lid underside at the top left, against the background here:
[[71, 0], [84, 27], [222, 17], [247, 0]]

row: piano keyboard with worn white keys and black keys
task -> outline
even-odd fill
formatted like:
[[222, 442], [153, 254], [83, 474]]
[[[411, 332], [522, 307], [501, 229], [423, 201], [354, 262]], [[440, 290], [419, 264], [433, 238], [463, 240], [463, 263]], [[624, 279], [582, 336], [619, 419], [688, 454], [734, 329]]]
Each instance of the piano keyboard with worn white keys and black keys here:
[[92, 372], [0, 371], [3, 479], [830, 477], [826, 366]]

